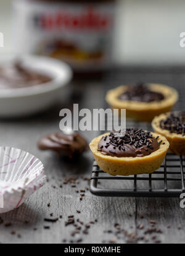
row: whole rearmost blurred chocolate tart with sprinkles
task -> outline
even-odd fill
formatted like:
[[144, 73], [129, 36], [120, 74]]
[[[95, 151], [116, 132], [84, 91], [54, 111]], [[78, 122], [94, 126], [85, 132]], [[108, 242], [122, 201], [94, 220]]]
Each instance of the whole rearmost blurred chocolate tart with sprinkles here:
[[126, 109], [126, 117], [147, 122], [170, 111], [177, 100], [178, 92], [174, 88], [157, 83], [121, 85], [106, 95], [112, 109]]

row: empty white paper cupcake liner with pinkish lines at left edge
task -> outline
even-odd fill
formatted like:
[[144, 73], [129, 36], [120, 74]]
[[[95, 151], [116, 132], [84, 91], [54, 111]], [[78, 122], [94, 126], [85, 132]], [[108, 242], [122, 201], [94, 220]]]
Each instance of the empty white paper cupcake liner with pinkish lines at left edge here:
[[0, 213], [22, 205], [45, 182], [38, 158], [17, 148], [0, 147]]

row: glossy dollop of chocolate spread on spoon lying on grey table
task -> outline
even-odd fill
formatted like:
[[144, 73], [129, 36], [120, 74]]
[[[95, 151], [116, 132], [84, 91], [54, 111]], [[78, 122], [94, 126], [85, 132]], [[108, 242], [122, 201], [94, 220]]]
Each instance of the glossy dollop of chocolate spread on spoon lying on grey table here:
[[63, 153], [69, 158], [73, 158], [76, 154], [83, 153], [88, 150], [88, 143], [77, 133], [64, 134], [64, 132], [56, 132], [42, 137], [38, 142], [38, 148], [41, 150], [54, 150], [57, 153]]

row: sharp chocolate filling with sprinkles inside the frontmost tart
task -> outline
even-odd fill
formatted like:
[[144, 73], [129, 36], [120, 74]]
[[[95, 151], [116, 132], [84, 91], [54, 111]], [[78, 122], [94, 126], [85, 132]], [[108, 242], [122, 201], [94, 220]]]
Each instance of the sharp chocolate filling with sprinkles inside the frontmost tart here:
[[99, 141], [98, 150], [104, 155], [128, 157], [146, 156], [158, 150], [160, 142], [150, 132], [142, 129], [126, 129], [126, 132], [110, 132]]

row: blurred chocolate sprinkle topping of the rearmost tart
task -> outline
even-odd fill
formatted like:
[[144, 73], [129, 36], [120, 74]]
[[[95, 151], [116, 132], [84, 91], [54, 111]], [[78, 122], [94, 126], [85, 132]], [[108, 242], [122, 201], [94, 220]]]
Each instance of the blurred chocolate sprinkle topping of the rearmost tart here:
[[146, 83], [138, 83], [128, 87], [128, 90], [121, 93], [121, 95], [118, 96], [118, 99], [124, 101], [152, 102], [161, 101], [164, 99], [164, 96], [162, 93], [151, 91]]

